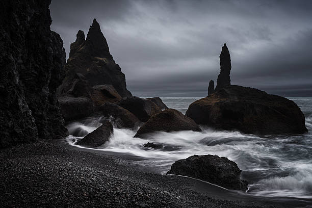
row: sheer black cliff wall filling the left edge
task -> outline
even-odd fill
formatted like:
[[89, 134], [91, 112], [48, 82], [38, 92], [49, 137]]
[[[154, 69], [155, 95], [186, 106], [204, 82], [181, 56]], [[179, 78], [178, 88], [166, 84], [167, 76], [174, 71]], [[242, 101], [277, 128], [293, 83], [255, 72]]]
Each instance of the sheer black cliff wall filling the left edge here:
[[65, 50], [50, 31], [49, 4], [0, 3], [0, 147], [67, 134], [56, 97]]

